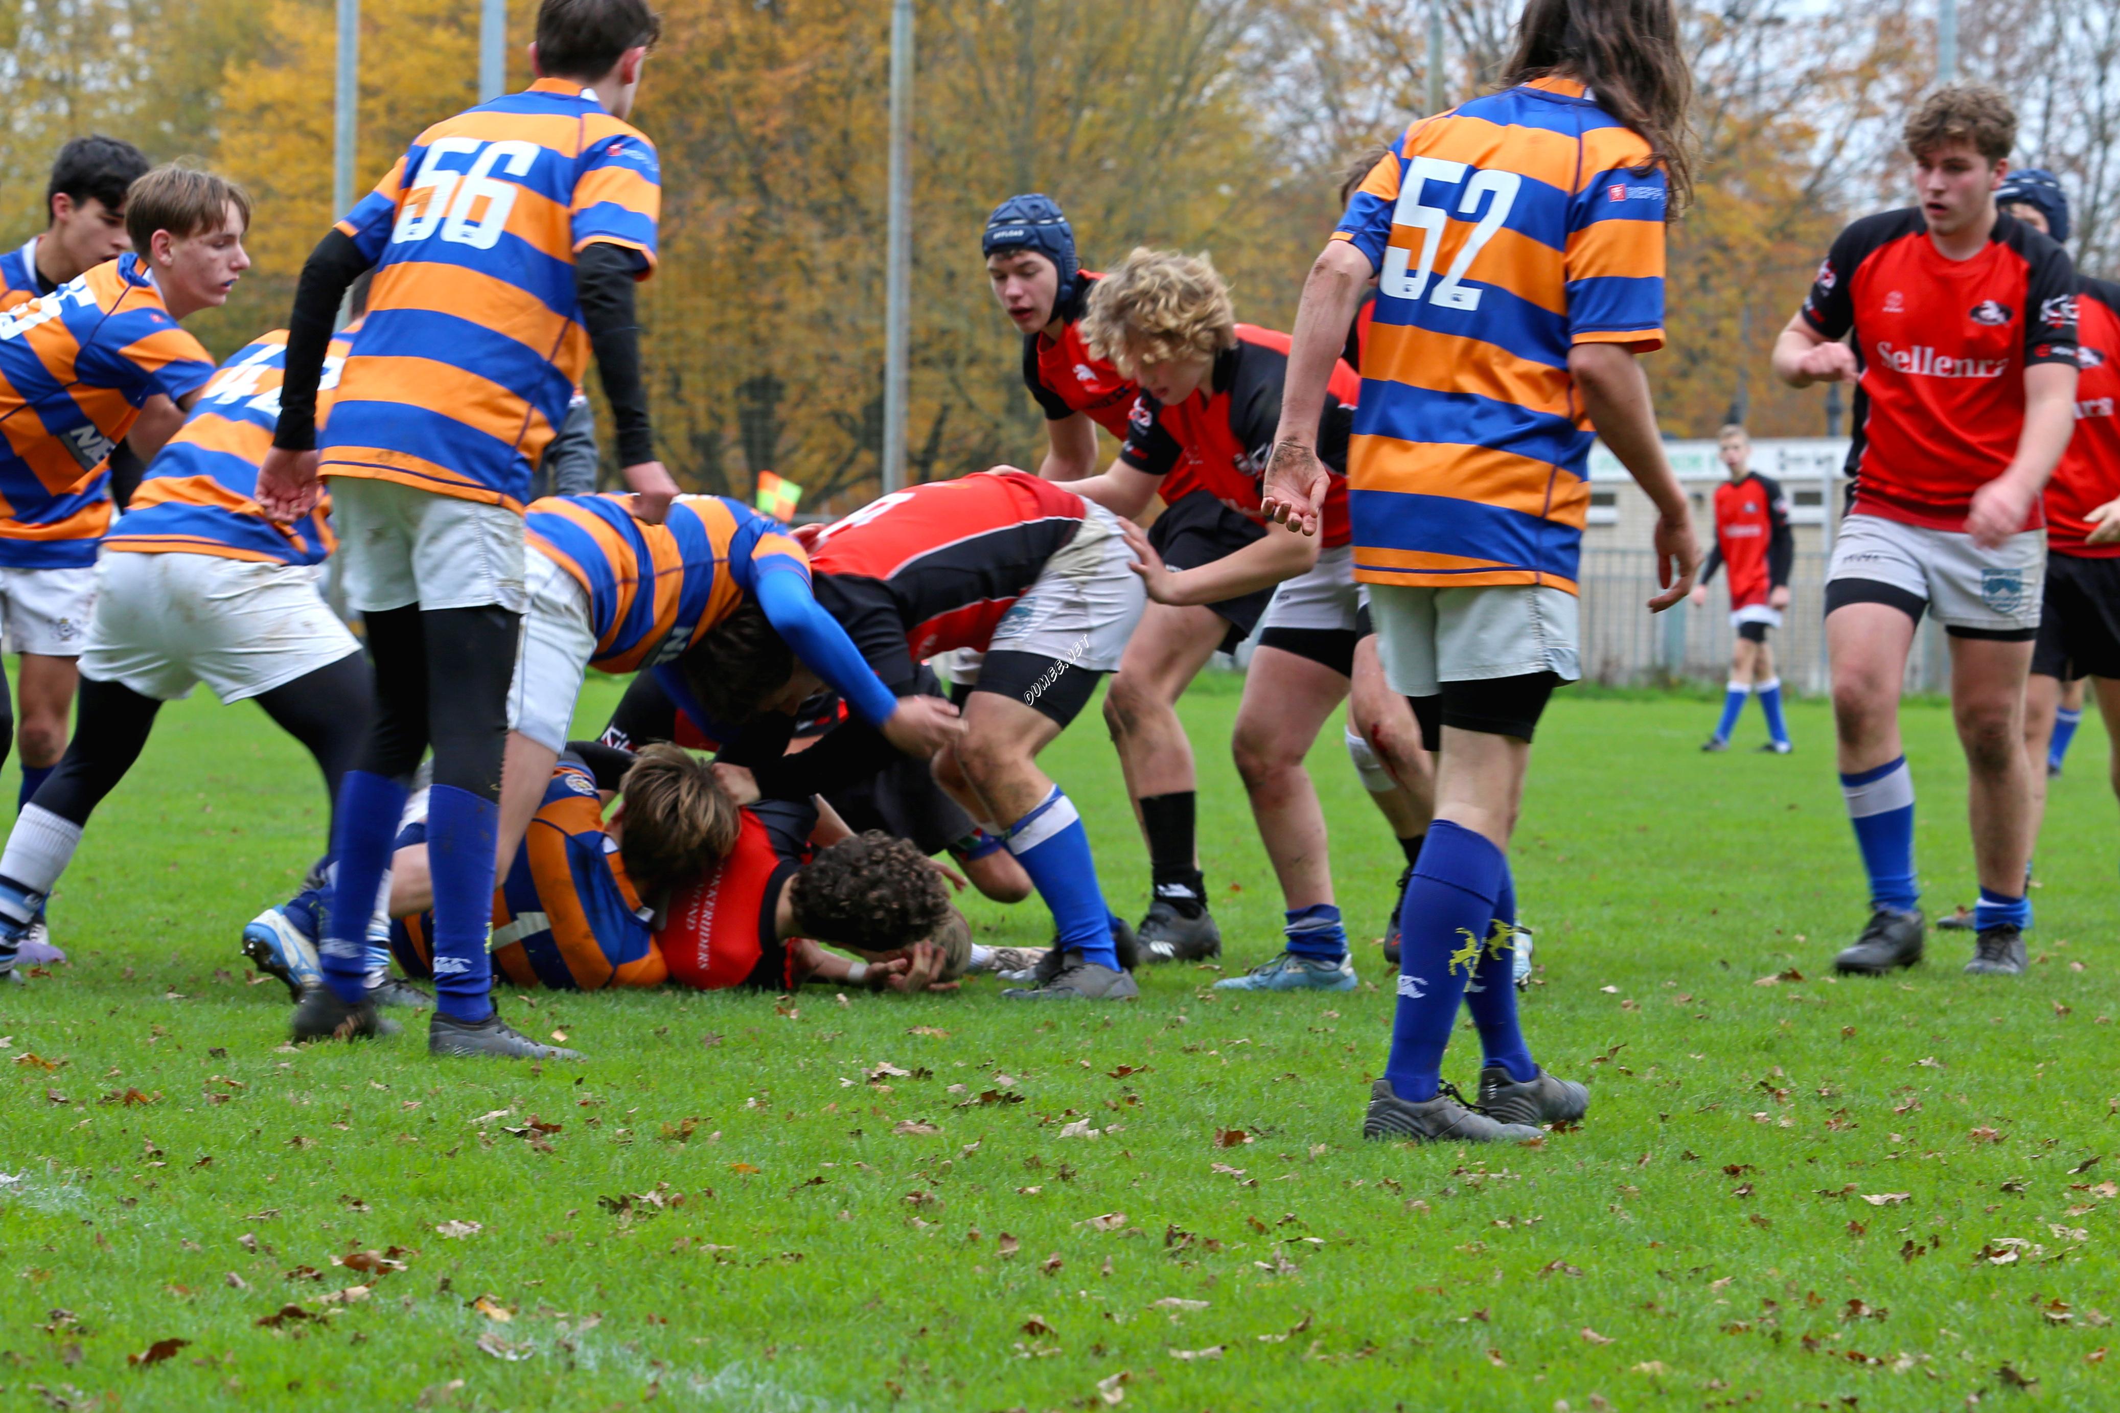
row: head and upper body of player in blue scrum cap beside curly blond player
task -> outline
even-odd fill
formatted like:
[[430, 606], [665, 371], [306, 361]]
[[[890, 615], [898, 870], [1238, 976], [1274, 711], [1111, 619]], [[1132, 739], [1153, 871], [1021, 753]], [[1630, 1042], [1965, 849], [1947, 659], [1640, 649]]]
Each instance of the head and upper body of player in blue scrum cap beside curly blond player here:
[[1126, 417], [1141, 388], [1090, 352], [1081, 316], [1096, 275], [1075, 254], [1075, 229], [1060, 203], [1028, 193], [986, 218], [979, 237], [994, 299], [1024, 330], [1024, 386], [1045, 409], [1047, 481], [1079, 481], [1096, 470], [1096, 430], [1126, 441]]

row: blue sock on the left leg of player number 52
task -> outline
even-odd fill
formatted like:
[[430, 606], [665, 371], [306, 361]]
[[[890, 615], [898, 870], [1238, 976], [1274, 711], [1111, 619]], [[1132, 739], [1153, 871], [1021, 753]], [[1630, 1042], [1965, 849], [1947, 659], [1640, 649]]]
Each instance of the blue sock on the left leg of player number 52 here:
[[[1444, 1049], [1456, 1025], [1495, 922], [1507, 860], [1482, 835], [1435, 820], [1399, 909], [1399, 1004], [1384, 1078], [1401, 1099], [1435, 1097]], [[1509, 989], [1507, 968], [1501, 987]]]

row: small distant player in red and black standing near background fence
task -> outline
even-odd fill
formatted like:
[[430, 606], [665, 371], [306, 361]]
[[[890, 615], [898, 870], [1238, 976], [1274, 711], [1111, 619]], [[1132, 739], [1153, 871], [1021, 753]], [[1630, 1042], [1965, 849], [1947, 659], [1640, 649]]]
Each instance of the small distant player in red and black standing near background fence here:
[[1730, 750], [1730, 731], [1745, 712], [1745, 699], [1757, 693], [1766, 716], [1766, 746], [1760, 750], [1785, 756], [1791, 750], [1789, 725], [1781, 714], [1781, 678], [1774, 676], [1766, 629], [1781, 627], [1781, 610], [1789, 606], [1789, 568], [1796, 564], [1789, 498], [1772, 477], [1751, 468], [1751, 434], [1743, 426], [1732, 422], [1717, 443], [1730, 479], [1715, 487], [1715, 549], [1694, 585], [1694, 604], [1709, 602], [1709, 580], [1728, 564], [1736, 640], [1730, 644], [1724, 714], [1700, 750]]

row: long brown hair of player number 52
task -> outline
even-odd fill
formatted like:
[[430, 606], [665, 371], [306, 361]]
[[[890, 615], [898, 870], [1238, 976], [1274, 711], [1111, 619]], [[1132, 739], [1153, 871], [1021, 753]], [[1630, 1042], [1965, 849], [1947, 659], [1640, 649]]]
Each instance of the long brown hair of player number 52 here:
[[1579, 78], [1598, 108], [1649, 144], [1651, 165], [1671, 178], [1666, 220], [1692, 205], [1694, 74], [1671, 0], [1531, 0], [1501, 85], [1550, 74]]

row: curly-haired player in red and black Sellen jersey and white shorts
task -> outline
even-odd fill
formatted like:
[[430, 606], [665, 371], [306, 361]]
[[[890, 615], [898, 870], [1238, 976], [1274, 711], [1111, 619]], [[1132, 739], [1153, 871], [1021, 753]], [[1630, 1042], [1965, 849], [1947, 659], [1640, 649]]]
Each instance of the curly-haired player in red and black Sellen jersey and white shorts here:
[[2025, 674], [2046, 568], [2039, 491], [2075, 426], [2075, 282], [2061, 246], [1995, 208], [2014, 142], [1995, 89], [1931, 93], [1906, 123], [1921, 205], [1842, 231], [1774, 343], [1785, 383], [1857, 386], [1855, 494], [1825, 583], [1840, 786], [1872, 902], [1836, 960], [1849, 972], [1921, 960], [1900, 684], [1923, 610], [1950, 633], [1972, 771], [1980, 943], [1967, 970], [2025, 970]]

